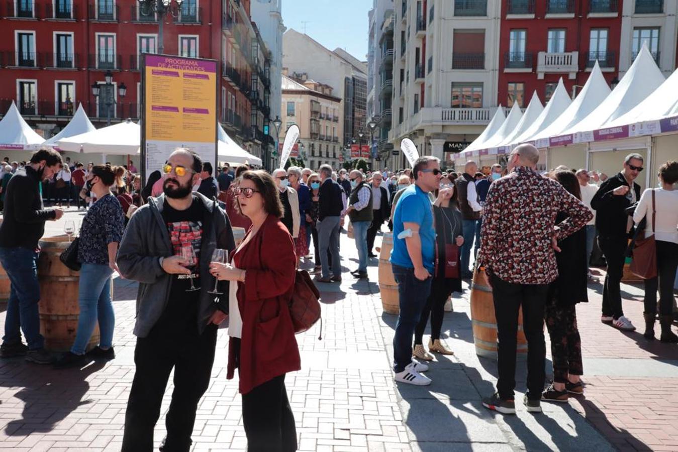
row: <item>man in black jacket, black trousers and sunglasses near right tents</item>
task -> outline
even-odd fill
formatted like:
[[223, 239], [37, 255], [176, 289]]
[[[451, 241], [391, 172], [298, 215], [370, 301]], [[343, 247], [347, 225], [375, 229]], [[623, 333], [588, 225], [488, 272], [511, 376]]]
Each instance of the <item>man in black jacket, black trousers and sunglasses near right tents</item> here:
[[624, 316], [619, 287], [626, 247], [633, 230], [633, 218], [626, 213], [626, 207], [640, 199], [640, 186], [633, 182], [640, 171], [643, 171], [643, 156], [627, 155], [624, 169], [614, 178], [603, 182], [591, 199], [591, 207], [596, 211], [598, 244], [607, 260], [601, 322], [612, 323], [614, 327], [625, 331], [635, 330], [631, 321]]

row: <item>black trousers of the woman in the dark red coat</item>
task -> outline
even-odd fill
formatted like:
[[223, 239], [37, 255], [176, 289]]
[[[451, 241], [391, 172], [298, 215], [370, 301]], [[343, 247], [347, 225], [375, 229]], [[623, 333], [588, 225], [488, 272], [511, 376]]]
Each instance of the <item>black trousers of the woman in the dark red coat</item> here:
[[285, 375], [260, 384], [242, 398], [248, 452], [296, 451], [296, 426]]

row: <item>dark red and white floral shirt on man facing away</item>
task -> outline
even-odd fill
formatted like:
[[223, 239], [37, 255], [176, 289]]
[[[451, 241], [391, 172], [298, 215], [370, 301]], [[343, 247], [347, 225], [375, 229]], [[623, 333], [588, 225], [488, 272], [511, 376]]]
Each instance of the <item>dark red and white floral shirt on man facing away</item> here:
[[[569, 216], [556, 224], [560, 212]], [[570, 236], [592, 217], [561, 184], [517, 167], [487, 192], [479, 265], [507, 283], [549, 284], [558, 277], [552, 239]]]

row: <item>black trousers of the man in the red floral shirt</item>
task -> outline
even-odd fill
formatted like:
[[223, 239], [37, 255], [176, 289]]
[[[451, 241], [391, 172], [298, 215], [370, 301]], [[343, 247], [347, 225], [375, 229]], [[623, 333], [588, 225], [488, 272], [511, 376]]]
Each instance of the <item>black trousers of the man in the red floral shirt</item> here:
[[515, 394], [515, 358], [518, 312], [523, 307], [523, 331], [527, 339], [527, 397], [540, 399], [544, 390], [546, 342], [544, 341], [544, 306], [546, 284], [512, 284], [492, 275], [492, 299], [497, 319], [499, 379], [497, 392], [504, 399]]

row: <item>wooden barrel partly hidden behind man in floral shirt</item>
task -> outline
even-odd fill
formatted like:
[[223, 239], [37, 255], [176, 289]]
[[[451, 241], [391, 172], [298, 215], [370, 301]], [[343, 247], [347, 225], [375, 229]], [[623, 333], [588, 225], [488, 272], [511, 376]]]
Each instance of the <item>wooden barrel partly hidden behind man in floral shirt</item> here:
[[[471, 323], [475, 354], [485, 358], [497, 358], [497, 321], [494, 316], [492, 287], [483, 281], [484, 270], [476, 269], [471, 282]], [[523, 333], [523, 310], [518, 314], [518, 356], [527, 355], [527, 340]]]

